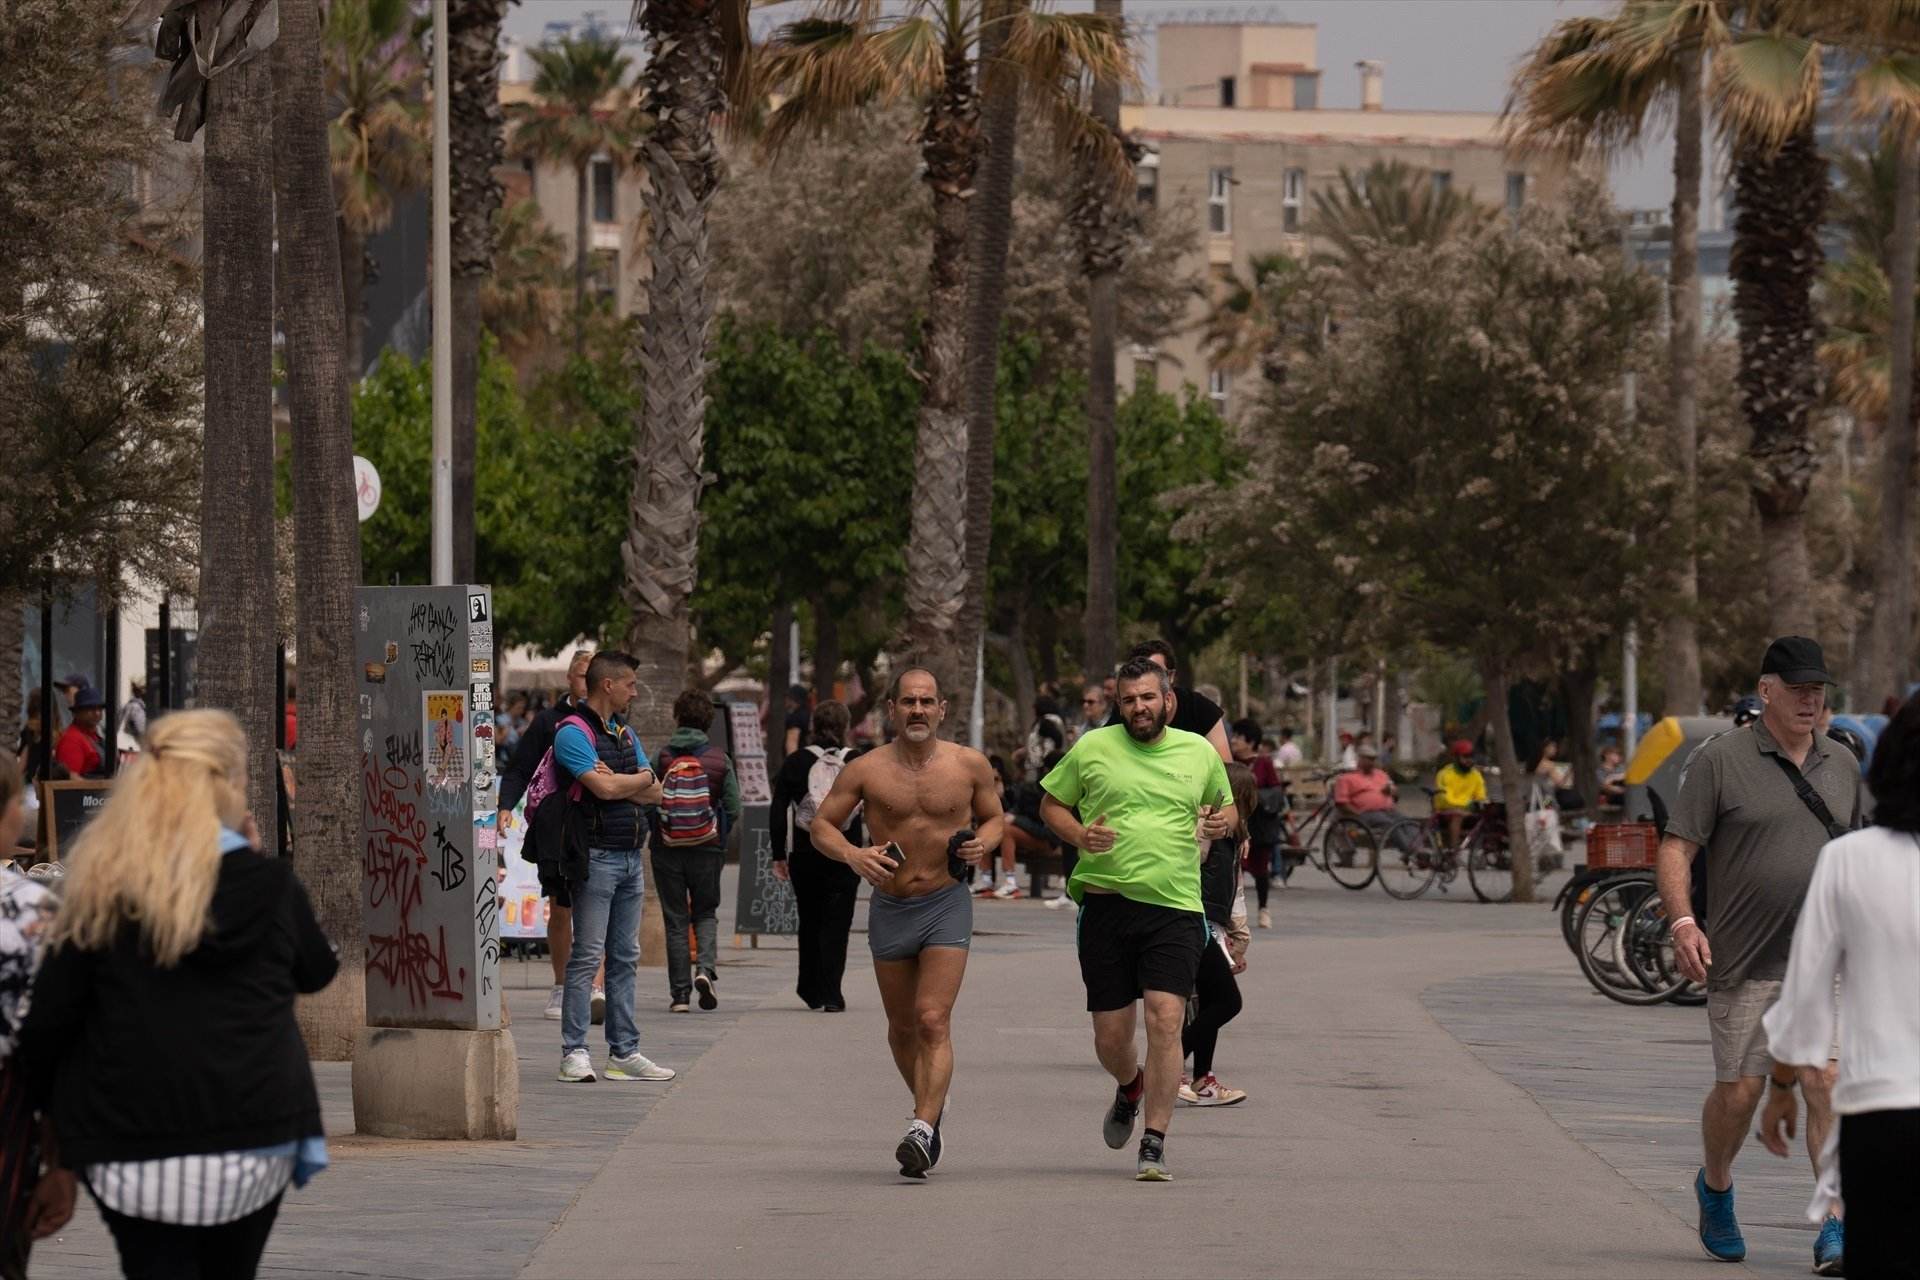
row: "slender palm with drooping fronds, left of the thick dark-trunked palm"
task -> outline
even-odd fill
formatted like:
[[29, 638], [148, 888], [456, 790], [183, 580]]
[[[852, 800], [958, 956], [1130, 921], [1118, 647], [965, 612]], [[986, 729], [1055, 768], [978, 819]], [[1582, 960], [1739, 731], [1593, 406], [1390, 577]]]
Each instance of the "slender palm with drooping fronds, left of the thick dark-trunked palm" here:
[[1653, 4], [1628, 0], [1611, 17], [1561, 21], [1515, 77], [1507, 117], [1513, 136], [1571, 155], [1603, 155], [1640, 144], [1647, 125], [1672, 111], [1674, 200], [1667, 263], [1667, 367], [1672, 384], [1668, 453], [1680, 474], [1674, 522], [1680, 541], [1674, 606], [1661, 626], [1667, 714], [1701, 704], [1699, 553], [1693, 537], [1699, 457], [1699, 180], [1703, 59], [1724, 44], [1726, 0]]

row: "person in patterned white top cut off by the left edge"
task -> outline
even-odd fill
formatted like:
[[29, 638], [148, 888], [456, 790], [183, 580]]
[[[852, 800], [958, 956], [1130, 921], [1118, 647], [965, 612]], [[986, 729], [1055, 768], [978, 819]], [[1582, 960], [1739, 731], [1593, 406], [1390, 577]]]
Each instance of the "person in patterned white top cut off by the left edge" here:
[[[0, 850], [13, 848], [27, 821], [19, 764], [0, 756]], [[50, 1169], [40, 1146], [40, 1119], [13, 1067], [19, 1019], [54, 919], [54, 900], [35, 881], [0, 862], [0, 1280], [25, 1280], [27, 1251], [73, 1217], [73, 1174]], [[46, 1161], [52, 1163], [52, 1161]]]

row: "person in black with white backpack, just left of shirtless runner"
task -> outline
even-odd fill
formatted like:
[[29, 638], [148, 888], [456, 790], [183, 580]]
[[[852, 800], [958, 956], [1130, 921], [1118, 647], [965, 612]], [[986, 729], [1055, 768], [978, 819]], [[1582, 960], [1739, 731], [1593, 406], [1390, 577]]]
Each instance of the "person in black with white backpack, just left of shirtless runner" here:
[[780, 766], [774, 808], [768, 814], [774, 875], [793, 883], [793, 898], [801, 908], [801, 977], [793, 988], [808, 1009], [828, 1013], [847, 1009], [841, 979], [847, 975], [847, 935], [852, 931], [860, 877], [845, 862], [814, 850], [806, 827], [826, 798], [826, 789], [854, 754], [847, 748], [851, 722], [845, 702], [828, 700], [814, 708], [812, 745]]

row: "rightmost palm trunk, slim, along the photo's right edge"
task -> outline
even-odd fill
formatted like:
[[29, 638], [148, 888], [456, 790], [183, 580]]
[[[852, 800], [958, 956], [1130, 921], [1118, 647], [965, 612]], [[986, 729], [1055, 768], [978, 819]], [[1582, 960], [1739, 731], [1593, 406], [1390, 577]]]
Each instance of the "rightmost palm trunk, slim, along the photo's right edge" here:
[[1887, 441], [1880, 457], [1880, 553], [1874, 564], [1874, 664], [1864, 710], [1903, 695], [1914, 645], [1914, 259], [1920, 257], [1920, 140], [1903, 138], [1893, 184], [1887, 294], [1893, 309]]

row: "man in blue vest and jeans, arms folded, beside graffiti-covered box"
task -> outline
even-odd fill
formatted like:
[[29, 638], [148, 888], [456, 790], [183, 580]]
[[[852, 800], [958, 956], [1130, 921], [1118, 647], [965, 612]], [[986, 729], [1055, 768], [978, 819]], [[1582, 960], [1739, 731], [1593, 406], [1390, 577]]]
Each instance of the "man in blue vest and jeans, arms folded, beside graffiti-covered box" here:
[[639, 965], [639, 904], [647, 821], [641, 804], [659, 804], [660, 783], [653, 777], [639, 739], [618, 716], [639, 693], [636, 662], [624, 652], [597, 652], [588, 664], [588, 700], [582, 718], [593, 725], [593, 739], [580, 725], [561, 725], [553, 735], [553, 760], [564, 783], [580, 783], [586, 858], [566, 864], [568, 892], [574, 900], [574, 946], [566, 958], [566, 994], [561, 1002], [561, 1082], [593, 1080], [588, 1055], [593, 971], [607, 961], [607, 1079], [672, 1080], [674, 1071], [649, 1061], [639, 1052], [639, 1025], [634, 1017], [636, 969]]

